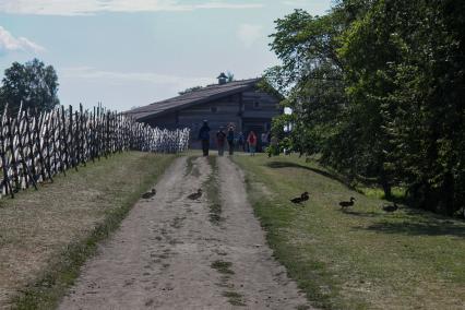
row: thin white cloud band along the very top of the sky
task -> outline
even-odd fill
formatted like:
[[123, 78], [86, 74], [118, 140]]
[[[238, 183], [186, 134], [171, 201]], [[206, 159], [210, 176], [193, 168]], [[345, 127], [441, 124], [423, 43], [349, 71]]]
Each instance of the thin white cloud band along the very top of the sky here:
[[[190, 2], [190, 3], [189, 3]], [[192, 11], [198, 9], [255, 9], [258, 2], [210, 0], [192, 3], [180, 0], [0, 0], [0, 12], [38, 15], [87, 15], [99, 12]]]

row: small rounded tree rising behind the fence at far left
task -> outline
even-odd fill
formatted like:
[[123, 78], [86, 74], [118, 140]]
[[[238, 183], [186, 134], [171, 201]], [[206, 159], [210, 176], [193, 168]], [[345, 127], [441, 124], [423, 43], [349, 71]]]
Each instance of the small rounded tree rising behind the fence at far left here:
[[51, 65], [45, 65], [38, 59], [24, 64], [13, 62], [4, 71], [0, 87], [0, 107], [5, 104], [12, 112], [16, 112], [23, 103], [24, 108], [49, 111], [59, 105], [58, 75]]

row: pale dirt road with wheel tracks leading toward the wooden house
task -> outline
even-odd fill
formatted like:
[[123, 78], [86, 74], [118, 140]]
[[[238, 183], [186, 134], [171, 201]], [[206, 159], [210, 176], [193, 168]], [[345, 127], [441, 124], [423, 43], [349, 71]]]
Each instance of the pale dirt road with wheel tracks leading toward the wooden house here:
[[187, 176], [177, 159], [120, 229], [83, 267], [60, 309], [307, 309], [305, 297], [272, 258], [241, 171], [219, 157], [220, 220], [208, 202], [187, 196], [212, 167], [196, 158]]

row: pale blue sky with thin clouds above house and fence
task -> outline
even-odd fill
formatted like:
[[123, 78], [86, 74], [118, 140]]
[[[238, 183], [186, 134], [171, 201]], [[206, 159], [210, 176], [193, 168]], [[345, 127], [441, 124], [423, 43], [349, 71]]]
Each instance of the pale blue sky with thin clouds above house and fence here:
[[0, 0], [0, 78], [38, 58], [58, 73], [61, 104], [114, 110], [278, 64], [274, 21], [332, 0]]

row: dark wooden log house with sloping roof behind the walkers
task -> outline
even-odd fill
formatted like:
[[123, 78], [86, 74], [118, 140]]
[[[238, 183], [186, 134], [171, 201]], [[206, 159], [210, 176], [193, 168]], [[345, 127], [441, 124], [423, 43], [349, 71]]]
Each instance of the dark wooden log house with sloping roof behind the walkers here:
[[[271, 129], [272, 118], [279, 115], [279, 98], [258, 87], [260, 79], [226, 82], [223, 73], [217, 78], [218, 84], [200, 87], [166, 100], [153, 103], [127, 111], [135, 120], [153, 127], [176, 129], [190, 128], [191, 146], [196, 142], [203, 120], [212, 129], [212, 142], [219, 127], [234, 124], [236, 134], [245, 136], [253, 130], [260, 134]], [[215, 144], [213, 143], [212, 146]]]

